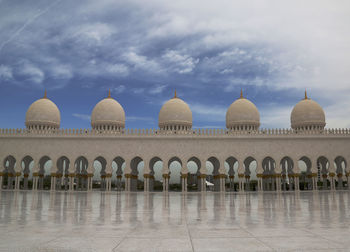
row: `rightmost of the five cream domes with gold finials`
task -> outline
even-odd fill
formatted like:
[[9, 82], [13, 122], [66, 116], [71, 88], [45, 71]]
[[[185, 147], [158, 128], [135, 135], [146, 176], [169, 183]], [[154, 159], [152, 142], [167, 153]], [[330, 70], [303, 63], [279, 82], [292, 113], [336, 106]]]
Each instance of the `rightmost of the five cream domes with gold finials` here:
[[307, 97], [295, 105], [290, 116], [293, 129], [323, 129], [326, 116], [322, 107]]

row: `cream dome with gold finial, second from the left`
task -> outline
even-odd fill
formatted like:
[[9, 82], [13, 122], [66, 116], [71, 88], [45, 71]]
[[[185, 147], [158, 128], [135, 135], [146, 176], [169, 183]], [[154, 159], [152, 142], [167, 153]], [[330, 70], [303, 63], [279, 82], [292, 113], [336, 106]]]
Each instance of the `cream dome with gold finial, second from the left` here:
[[125, 127], [125, 112], [123, 107], [111, 97], [96, 104], [91, 113], [91, 126], [94, 129], [120, 129]]

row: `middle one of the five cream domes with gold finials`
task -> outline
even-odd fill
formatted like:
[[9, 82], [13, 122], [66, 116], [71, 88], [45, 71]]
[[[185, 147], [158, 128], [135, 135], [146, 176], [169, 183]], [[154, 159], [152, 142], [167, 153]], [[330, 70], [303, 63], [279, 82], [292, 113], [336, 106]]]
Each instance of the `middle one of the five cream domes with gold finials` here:
[[176, 97], [167, 101], [159, 112], [158, 125], [160, 129], [189, 129], [192, 127], [192, 112], [186, 102]]

